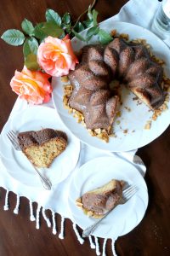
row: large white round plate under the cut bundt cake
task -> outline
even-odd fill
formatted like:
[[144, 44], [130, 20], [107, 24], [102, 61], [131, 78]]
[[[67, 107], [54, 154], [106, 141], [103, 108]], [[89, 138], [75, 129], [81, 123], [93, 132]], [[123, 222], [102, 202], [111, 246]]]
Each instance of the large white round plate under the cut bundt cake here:
[[[140, 26], [135, 26], [125, 22], [115, 22], [112, 19], [105, 20], [100, 27], [107, 32], [116, 29], [119, 33], [127, 33], [130, 39], [144, 38], [147, 43], [152, 46], [152, 52], [159, 58], [166, 61], [165, 73], [170, 78], [170, 50], [160, 38], [155, 34]], [[84, 32], [82, 32], [83, 34]], [[90, 44], [97, 44], [96, 38]], [[84, 42], [77, 38], [72, 39], [72, 46], [75, 51], [78, 51], [84, 46]], [[68, 84], [68, 83], [67, 83]], [[135, 148], [143, 147], [159, 137], [169, 125], [170, 119], [170, 102], [168, 102], [169, 109], [161, 116], [152, 121], [150, 130], [145, 130], [144, 125], [151, 119], [152, 111], [142, 102], [133, 100], [135, 97], [130, 90], [122, 86], [122, 106], [120, 111], [121, 117], [116, 118], [113, 127], [116, 137], [111, 137], [109, 143], [101, 141], [97, 137], [91, 137], [87, 129], [81, 124], [77, 123], [77, 119], [68, 110], [63, 107], [63, 85], [60, 79], [53, 78], [53, 101], [54, 107], [59, 113], [63, 123], [71, 130], [71, 132], [78, 137], [83, 143], [87, 143], [95, 148], [105, 149], [112, 152], [128, 151]], [[130, 110], [130, 111], [129, 111]], [[118, 122], [117, 122], [118, 121]], [[123, 132], [124, 131], [124, 132]], [[126, 132], [127, 131], [127, 132]]]

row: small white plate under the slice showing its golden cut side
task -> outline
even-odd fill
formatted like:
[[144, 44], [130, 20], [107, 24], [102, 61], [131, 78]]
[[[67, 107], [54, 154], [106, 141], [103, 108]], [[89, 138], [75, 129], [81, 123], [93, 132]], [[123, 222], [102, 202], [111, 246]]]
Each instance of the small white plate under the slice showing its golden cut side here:
[[[47, 176], [52, 184], [63, 181], [77, 165], [80, 153], [80, 142], [71, 131], [62, 124], [56, 112], [52, 108], [46, 107], [29, 107], [26, 110], [16, 113], [3, 127], [0, 137], [0, 154], [3, 165], [7, 172], [20, 183], [31, 187], [42, 187], [37, 177], [37, 173], [27, 160], [25, 154], [14, 149], [9, 142], [7, 132], [14, 131], [38, 131], [42, 128], [52, 128], [55, 130], [65, 131], [68, 137], [68, 145], [62, 154], [54, 159], [52, 165], [47, 169], [39, 169]], [[69, 156], [69, 158], [68, 158]]]

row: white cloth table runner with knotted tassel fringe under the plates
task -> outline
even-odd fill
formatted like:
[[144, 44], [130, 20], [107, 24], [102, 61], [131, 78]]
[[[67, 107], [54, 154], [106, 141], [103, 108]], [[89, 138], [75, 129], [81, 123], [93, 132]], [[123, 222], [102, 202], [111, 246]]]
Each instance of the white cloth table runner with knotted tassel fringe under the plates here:
[[[148, 4], [150, 4], [150, 8], [148, 8]], [[126, 5], [124, 5], [120, 11], [120, 13], [111, 19], [113, 21], [126, 21], [130, 22], [139, 26], [144, 26], [145, 28], [150, 29], [151, 21], [155, 15], [156, 9], [160, 3], [157, 0], [131, 0]], [[165, 42], [166, 44], [170, 44], [170, 42]], [[44, 104], [45, 105], [45, 104]], [[46, 104], [48, 108], [54, 108], [53, 102], [48, 102]], [[29, 105], [26, 102], [23, 102], [20, 99], [17, 99], [17, 101], [14, 104], [14, 108], [9, 116], [9, 119], [13, 116], [14, 113], [20, 112], [20, 110], [23, 110], [25, 108], [29, 108]], [[133, 150], [130, 152], [122, 152], [122, 153], [107, 153], [105, 151], [89, 147], [82, 143], [82, 150], [81, 150], [81, 157], [77, 164], [77, 167], [82, 166], [83, 163], [87, 162], [88, 160], [94, 159], [95, 157], [99, 156], [105, 156], [105, 155], [112, 155], [113, 157], [121, 157], [124, 160], [133, 162], [133, 165], [137, 167], [139, 172], [144, 176], [145, 173], [145, 166], [142, 160], [135, 155], [137, 150]], [[0, 187], [3, 187], [4, 189], [7, 189], [6, 194], [6, 200], [4, 204], [4, 210], [8, 210], [8, 192], [13, 191], [17, 197], [16, 197], [16, 207], [14, 209], [14, 213], [18, 213], [19, 211], [19, 205], [20, 205], [20, 196], [26, 196], [30, 201], [30, 209], [31, 209], [31, 221], [36, 220], [36, 227], [39, 228], [39, 214], [42, 209], [42, 216], [47, 221], [48, 226], [50, 226], [49, 219], [45, 215], [45, 209], [51, 209], [52, 216], [53, 216], [53, 233], [57, 233], [57, 228], [54, 221], [54, 213], [58, 212], [61, 215], [61, 230], [59, 230], [59, 238], [63, 238], [64, 234], [64, 220], [65, 218], [71, 218], [69, 212], [67, 211], [67, 203], [63, 203], [66, 201], [66, 190], [68, 187], [68, 183], [70, 182], [71, 175], [67, 177], [65, 181], [62, 183], [59, 183], [59, 185], [56, 187], [56, 189], [47, 191], [43, 188], [34, 188], [28, 187], [16, 180], [14, 180], [13, 177], [10, 177], [8, 175], [8, 172], [4, 168], [1, 160], [0, 160]], [[64, 193], [65, 192], [65, 193]], [[37, 206], [37, 216], [36, 218], [33, 216], [32, 213], [32, 202], [36, 201]], [[83, 243], [82, 237], [78, 234], [76, 224], [73, 223], [73, 229], [76, 232], [77, 239], [80, 241], [80, 243]], [[113, 254], [116, 255], [114, 242], [117, 237], [113, 238], [112, 242], [112, 251]], [[99, 244], [97, 237], [94, 237], [94, 241], [92, 241], [92, 237], [89, 236], [90, 246], [92, 248], [96, 249], [97, 255], [100, 254], [99, 252]], [[106, 245], [106, 239], [104, 242], [103, 247], [103, 255], [105, 255], [105, 245]]]

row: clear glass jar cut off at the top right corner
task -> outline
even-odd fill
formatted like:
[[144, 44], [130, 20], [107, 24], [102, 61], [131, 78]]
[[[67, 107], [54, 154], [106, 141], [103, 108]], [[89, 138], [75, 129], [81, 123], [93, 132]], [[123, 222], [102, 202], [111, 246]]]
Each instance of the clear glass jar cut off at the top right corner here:
[[154, 17], [151, 30], [162, 39], [170, 38], [170, 0], [163, 0], [160, 5]]

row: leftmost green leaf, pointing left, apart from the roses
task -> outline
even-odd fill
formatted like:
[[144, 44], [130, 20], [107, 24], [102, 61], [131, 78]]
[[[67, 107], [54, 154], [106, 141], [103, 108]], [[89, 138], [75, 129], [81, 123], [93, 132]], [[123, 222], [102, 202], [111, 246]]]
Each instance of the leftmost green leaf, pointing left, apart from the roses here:
[[1, 38], [7, 43], [14, 46], [18, 46], [24, 43], [25, 35], [18, 29], [8, 29], [3, 33]]

